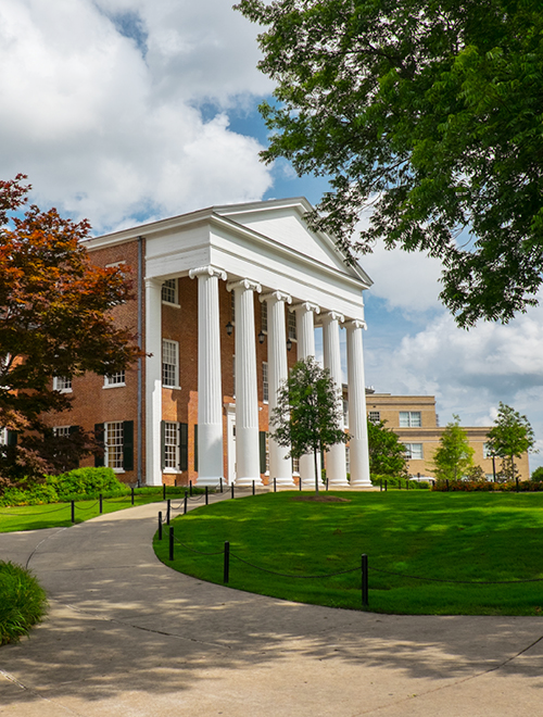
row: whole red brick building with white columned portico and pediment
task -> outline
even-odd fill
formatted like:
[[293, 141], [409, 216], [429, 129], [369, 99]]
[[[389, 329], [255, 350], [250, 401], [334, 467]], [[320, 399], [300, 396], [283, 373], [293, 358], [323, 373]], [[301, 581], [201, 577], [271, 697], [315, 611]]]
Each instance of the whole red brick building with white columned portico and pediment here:
[[[55, 429], [94, 428], [103, 463], [128, 482], [314, 486], [311, 456], [287, 458], [268, 438], [268, 415], [288, 367], [315, 355], [317, 325], [341, 387], [344, 326], [350, 485], [369, 487], [363, 291], [371, 281], [307, 228], [310, 209], [304, 199], [214, 206], [89, 240], [93, 263], [130, 269], [136, 298], [116, 317], [146, 356], [115, 376], [59, 377], [74, 403]], [[349, 485], [343, 444], [327, 453], [326, 470], [330, 486]]]

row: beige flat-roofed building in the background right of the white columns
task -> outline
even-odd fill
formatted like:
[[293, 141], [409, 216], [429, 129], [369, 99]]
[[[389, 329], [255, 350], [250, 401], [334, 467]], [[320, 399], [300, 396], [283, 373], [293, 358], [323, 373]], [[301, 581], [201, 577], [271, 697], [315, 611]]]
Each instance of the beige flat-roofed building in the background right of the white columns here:
[[[439, 425], [433, 395], [391, 395], [375, 393], [366, 389], [368, 418], [372, 422], [384, 420], [387, 427], [397, 433], [407, 449], [408, 469], [412, 476], [431, 478], [433, 473], [432, 456], [439, 445], [444, 426]], [[473, 463], [481, 466], [487, 478], [493, 479], [492, 457], [487, 454], [485, 440], [490, 426], [463, 426], [469, 443], [475, 449]], [[530, 478], [528, 453], [516, 460], [521, 480]], [[496, 473], [501, 460], [495, 458]]]

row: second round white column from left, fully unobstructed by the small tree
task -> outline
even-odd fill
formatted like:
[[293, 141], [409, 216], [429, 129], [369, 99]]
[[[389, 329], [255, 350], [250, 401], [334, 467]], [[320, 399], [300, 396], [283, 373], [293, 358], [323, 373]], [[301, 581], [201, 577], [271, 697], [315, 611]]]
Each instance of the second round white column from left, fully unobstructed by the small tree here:
[[254, 480], [262, 486], [254, 332], [254, 291], [262, 288], [241, 279], [227, 289], [233, 290], [236, 311], [236, 485], [250, 486]]

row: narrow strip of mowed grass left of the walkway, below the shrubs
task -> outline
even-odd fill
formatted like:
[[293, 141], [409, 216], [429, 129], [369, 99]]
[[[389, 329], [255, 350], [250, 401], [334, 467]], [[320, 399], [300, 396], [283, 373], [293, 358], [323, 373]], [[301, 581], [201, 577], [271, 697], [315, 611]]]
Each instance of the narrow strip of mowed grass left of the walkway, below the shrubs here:
[[[146, 503], [156, 501], [162, 501], [162, 490], [160, 494], [136, 494], [134, 505], [144, 505]], [[130, 495], [103, 499], [104, 514], [123, 511], [128, 507], [131, 507]], [[76, 523], [96, 518], [98, 515], [100, 515], [100, 503], [98, 499], [75, 502]], [[71, 503], [0, 507], [0, 532], [38, 530], [40, 528], [56, 528], [71, 525], [73, 525]]]

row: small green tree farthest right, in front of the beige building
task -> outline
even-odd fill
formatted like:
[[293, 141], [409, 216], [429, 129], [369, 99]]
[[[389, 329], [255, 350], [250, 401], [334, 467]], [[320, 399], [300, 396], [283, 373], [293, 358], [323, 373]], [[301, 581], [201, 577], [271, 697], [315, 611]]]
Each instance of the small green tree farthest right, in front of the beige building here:
[[534, 444], [533, 429], [528, 418], [500, 401], [494, 426], [487, 435], [487, 445], [502, 458], [502, 480], [515, 480], [518, 475], [515, 458], [520, 458], [527, 451], [535, 452]]

